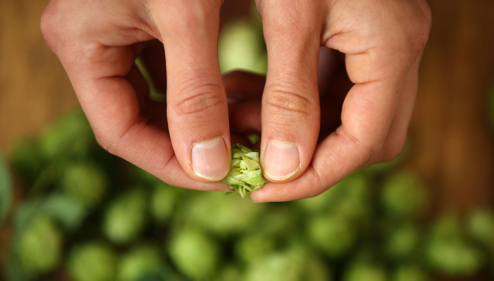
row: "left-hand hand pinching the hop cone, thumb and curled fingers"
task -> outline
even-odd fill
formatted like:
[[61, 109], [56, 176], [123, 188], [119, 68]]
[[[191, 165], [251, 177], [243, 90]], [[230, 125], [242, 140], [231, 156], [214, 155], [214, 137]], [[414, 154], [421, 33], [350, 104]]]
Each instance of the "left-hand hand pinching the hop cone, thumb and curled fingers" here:
[[[51, 0], [41, 18], [100, 145], [171, 185], [228, 190], [212, 183], [231, 161], [217, 57], [221, 4]], [[158, 77], [166, 104], [149, 100], [137, 56]]]

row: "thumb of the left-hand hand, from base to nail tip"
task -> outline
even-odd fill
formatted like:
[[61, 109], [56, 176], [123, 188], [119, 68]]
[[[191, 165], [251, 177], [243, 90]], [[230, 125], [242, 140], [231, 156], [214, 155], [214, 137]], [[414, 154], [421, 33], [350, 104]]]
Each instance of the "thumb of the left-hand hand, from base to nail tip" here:
[[221, 2], [192, 2], [156, 2], [153, 18], [165, 46], [175, 155], [191, 177], [212, 182], [226, 176], [231, 161], [228, 104], [218, 65]]

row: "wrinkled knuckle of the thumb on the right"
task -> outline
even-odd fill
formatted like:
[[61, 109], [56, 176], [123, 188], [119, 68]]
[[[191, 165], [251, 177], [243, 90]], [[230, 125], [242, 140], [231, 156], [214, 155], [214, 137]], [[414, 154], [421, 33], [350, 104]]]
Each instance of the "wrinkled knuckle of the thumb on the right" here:
[[317, 112], [315, 103], [305, 97], [302, 91], [294, 91], [289, 87], [271, 86], [268, 89], [269, 96], [266, 99], [268, 110], [283, 117], [307, 116]]

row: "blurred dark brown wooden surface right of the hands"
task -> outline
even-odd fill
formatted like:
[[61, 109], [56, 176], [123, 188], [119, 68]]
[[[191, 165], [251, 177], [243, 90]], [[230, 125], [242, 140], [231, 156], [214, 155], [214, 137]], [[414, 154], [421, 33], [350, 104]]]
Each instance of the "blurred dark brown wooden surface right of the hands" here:
[[436, 207], [466, 210], [493, 202], [494, 1], [430, 1], [433, 24], [419, 78], [410, 136], [412, 166]]

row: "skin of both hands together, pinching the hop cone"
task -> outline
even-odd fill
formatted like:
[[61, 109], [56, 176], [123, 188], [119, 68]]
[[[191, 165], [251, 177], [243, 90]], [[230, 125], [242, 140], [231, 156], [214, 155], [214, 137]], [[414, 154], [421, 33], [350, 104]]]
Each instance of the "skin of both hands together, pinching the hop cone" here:
[[[236, 106], [251, 120], [250, 129], [261, 131], [261, 166], [271, 182], [251, 198], [315, 196], [351, 172], [399, 154], [431, 25], [427, 3], [254, 2], [263, 19], [268, 72], [263, 90], [250, 91], [261, 98], [260, 107], [247, 101]], [[236, 136], [230, 131], [246, 128], [240, 118], [229, 120], [226, 92], [233, 92], [232, 84], [246, 85], [248, 95], [247, 88], [259, 85], [259, 78], [247, 74], [221, 77], [221, 5], [221, 0], [51, 0], [41, 17], [43, 36], [67, 71], [98, 143], [171, 185], [228, 189], [217, 181], [229, 170]], [[166, 105], [148, 100], [133, 63], [161, 46], [153, 39], [165, 49]], [[340, 96], [341, 124], [327, 137], [320, 134], [321, 46], [344, 54], [351, 82]]]

